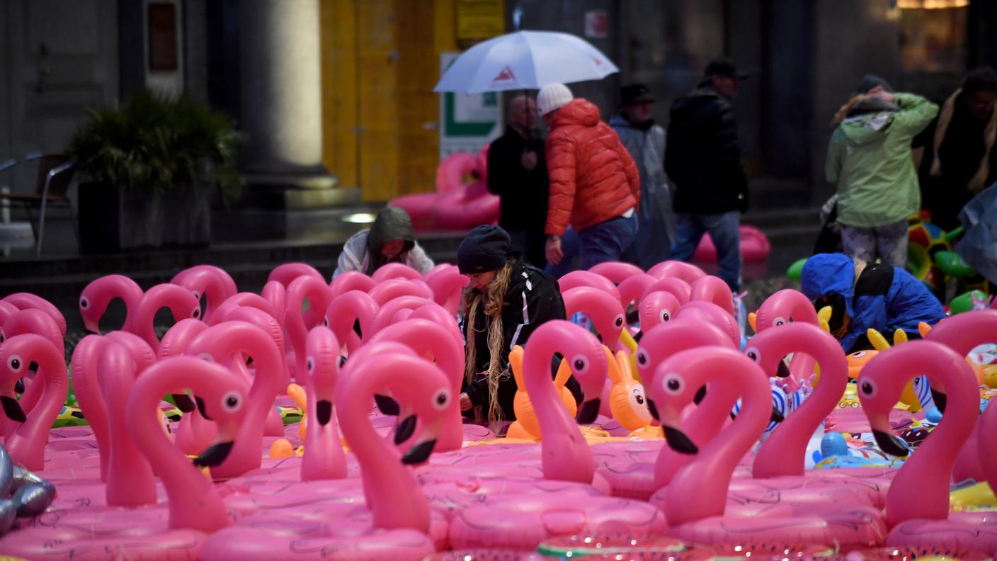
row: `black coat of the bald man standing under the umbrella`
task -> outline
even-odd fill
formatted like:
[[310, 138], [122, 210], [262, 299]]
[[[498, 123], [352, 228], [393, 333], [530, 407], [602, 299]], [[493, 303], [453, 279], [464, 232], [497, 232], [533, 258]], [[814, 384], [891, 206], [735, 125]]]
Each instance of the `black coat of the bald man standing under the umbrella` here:
[[[489, 191], [500, 198], [498, 226], [506, 231], [521, 230], [543, 234], [547, 221], [547, 161], [543, 139], [523, 140], [511, 127], [489, 148]], [[522, 167], [522, 153], [536, 153], [532, 170]]]

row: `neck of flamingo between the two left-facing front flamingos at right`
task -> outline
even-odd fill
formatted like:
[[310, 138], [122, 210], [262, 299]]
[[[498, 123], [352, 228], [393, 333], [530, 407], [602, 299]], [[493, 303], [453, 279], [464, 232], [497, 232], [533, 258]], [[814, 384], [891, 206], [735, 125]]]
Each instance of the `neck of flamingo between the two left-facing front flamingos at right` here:
[[[788, 341], [789, 337], [772, 339]], [[810, 354], [821, 365], [821, 383], [799, 409], [762, 443], [752, 467], [754, 477], [777, 477], [784, 475], [804, 475], [807, 444], [818, 426], [828, 418], [844, 393], [848, 383], [847, 362], [840, 347], [827, 344], [811, 344], [809, 339], [800, 339], [793, 348], [777, 348], [775, 352], [784, 356], [792, 350]], [[785, 352], [784, 352], [785, 350]]]

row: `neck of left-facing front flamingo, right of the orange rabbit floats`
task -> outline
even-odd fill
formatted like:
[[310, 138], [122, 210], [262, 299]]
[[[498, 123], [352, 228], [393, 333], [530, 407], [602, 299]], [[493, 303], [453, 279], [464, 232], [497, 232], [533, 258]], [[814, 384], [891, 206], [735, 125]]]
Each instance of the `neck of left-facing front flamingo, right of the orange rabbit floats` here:
[[739, 374], [743, 372], [735, 372], [724, 381], [734, 385], [741, 395], [741, 412], [726, 430], [700, 448], [692, 463], [672, 478], [665, 505], [669, 525], [724, 513], [734, 468], [769, 422], [772, 415], [769, 384]]

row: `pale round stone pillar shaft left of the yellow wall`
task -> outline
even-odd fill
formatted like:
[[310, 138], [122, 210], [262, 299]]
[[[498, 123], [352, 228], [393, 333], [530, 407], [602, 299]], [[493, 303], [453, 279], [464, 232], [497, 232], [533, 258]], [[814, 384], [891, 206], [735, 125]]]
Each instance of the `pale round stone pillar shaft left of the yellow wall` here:
[[238, 4], [242, 170], [256, 187], [328, 190], [318, 0]]

